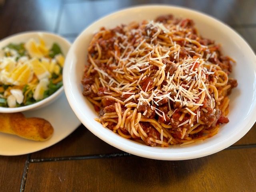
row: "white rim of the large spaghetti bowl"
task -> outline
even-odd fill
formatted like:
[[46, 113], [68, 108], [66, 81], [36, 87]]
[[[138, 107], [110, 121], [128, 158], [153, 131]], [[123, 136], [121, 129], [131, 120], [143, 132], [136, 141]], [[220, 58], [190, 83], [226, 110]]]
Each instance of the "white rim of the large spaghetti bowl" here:
[[[150, 4], [150, 5], [140, 5], [140, 6], [132, 6], [132, 7], [128, 7], [128, 8], [124, 8], [121, 10], [118, 10], [116, 12], [107, 14], [106, 16], [103, 16], [102, 18], [96, 20], [95, 22], [93, 22], [92, 24], [90, 24], [88, 27], [86, 27], [76, 38], [76, 40], [74, 41], [74, 43], [72, 44], [70, 51], [67, 54], [66, 57], [66, 62], [69, 62], [69, 64], [65, 65], [64, 68], [64, 76], [68, 77], [68, 70], [71, 70], [72, 66], [71, 66], [71, 60], [72, 60], [72, 51], [74, 50], [74, 46], [76, 46], [76, 44], [79, 42], [79, 40], [82, 38], [83, 34], [86, 34], [86, 31], [91, 28], [92, 26], [94, 26], [95, 24], [97, 24], [98, 22], [101, 22], [102, 20], [104, 20], [105, 18], [108, 18], [110, 16], [114, 16], [117, 14], [120, 14], [122, 12], [126, 12], [126, 11], [132, 11], [132, 10], [136, 10], [136, 9], [149, 9], [149, 8], [170, 8], [170, 9], [178, 9], [178, 10], [182, 10], [182, 11], [189, 11], [191, 13], [197, 14], [198, 16], [202, 16], [207, 18], [208, 20], [215, 22], [218, 25], [221, 25], [222, 27], [224, 27], [225, 29], [229, 30], [230, 32], [232, 32], [233, 34], [235, 34], [243, 43], [244, 45], [246, 45], [246, 50], [248, 50], [250, 53], [249, 54], [253, 54], [254, 55], [254, 63], [256, 63], [256, 56], [254, 54], [254, 51], [252, 50], [252, 48], [250, 47], [250, 45], [244, 40], [244, 38], [238, 34], [236, 31], [234, 31], [230, 26], [228, 26], [227, 24], [225, 24], [224, 22], [221, 22], [220, 20], [214, 18], [213, 16], [210, 16], [208, 14], [205, 14], [203, 12], [197, 11], [197, 10], [193, 10], [190, 8], [184, 8], [182, 6], [172, 6], [172, 5], [166, 5], [166, 4]], [[75, 65], [75, 64], [74, 64]], [[256, 67], [254, 68], [254, 70], [256, 70]], [[141, 157], [145, 157], [145, 158], [151, 158], [151, 159], [156, 159], [156, 160], [188, 160], [188, 159], [194, 159], [194, 158], [200, 158], [200, 157], [204, 157], [204, 156], [208, 156], [210, 154], [214, 154], [216, 152], [219, 152], [229, 146], [231, 146], [232, 144], [234, 144], [236, 141], [238, 141], [240, 138], [242, 138], [252, 127], [252, 125], [255, 123], [256, 121], [256, 117], [254, 116], [250, 116], [248, 122], [244, 125], [244, 127], [242, 129], [239, 130], [239, 132], [236, 132], [235, 134], [233, 134], [232, 136], [230, 136], [227, 140], [224, 140], [218, 144], [216, 144], [214, 146], [214, 148], [212, 146], [208, 146], [207, 148], [203, 148], [200, 150], [196, 150], [190, 153], [178, 153], [178, 156], [173, 156], [172, 154], [168, 153], [168, 152], [159, 152], [161, 151], [158, 147], [155, 147], [156, 150], [150, 150], [147, 151], [145, 150], [146, 147], [151, 148], [149, 146], [144, 146], [144, 147], [140, 147], [140, 148], [136, 148], [136, 146], [138, 146], [138, 144], [134, 144], [133, 142], [126, 142], [125, 138], [123, 138], [123, 142], [118, 141], [114, 141], [113, 137], [110, 134], [106, 134], [106, 135], [102, 135], [100, 132], [97, 132], [96, 129], [94, 129], [93, 124], [89, 121], [86, 121], [86, 119], [83, 118], [83, 114], [82, 111], [80, 110], [79, 106], [77, 105], [76, 102], [74, 102], [74, 98], [75, 96], [72, 94], [72, 84], [70, 79], [66, 79], [64, 78], [64, 90], [66, 93], [66, 97], [68, 99], [68, 102], [72, 108], [72, 110], [74, 111], [74, 113], [76, 114], [76, 116], [78, 117], [78, 119], [82, 122], [82, 124], [84, 124], [86, 126], [86, 128], [88, 128], [88, 130], [90, 130], [94, 135], [96, 135], [98, 138], [100, 138], [101, 140], [107, 142], [108, 144], [126, 151], [128, 153], [137, 155], [137, 156], [141, 156]], [[256, 107], [254, 107], [252, 109], [252, 114], [256, 113]], [[239, 133], [239, 135], [238, 135]], [[158, 150], [159, 149], [159, 150]]]

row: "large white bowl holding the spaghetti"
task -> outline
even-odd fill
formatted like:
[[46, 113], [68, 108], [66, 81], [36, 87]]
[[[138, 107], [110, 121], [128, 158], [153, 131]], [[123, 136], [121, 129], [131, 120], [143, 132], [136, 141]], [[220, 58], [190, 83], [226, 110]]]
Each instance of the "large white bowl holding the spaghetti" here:
[[[82, 95], [80, 83], [84, 65], [87, 63], [87, 48], [92, 34], [100, 27], [114, 28], [132, 21], [154, 19], [159, 15], [191, 18], [200, 34], [222, 44], [224, 55], [234, 58], [232, 76], [238, 87], [230, 95], [229, 123], [223, 124], [215, 136], [202, 143], [186, 147], [150, 147], [122, 138], [94, 120], [98, 114], [92, 104]], [[200, 12], [167, 5], [138, 6], [124, 9], [94, 22], [76, 38], [68, 52], [64, 67], [64, 89], [68, 102], [79, 120], [93, 134], [108, 144], [125, 152], [158, 160], [186, 160], [214, 154], [242, 138], [252, 127], [256, 118], [256, 56], [244, 39], [226, 24]]]

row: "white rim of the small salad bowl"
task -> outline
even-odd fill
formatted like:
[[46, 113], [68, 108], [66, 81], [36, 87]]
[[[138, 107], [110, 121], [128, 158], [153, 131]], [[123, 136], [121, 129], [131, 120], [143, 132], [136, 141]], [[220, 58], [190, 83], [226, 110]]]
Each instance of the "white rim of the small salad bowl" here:
[[[47, 36], [52, 36], [54, 38], [58, 38], [60, 40], [62, 40], [65, 44], [68, 45], [69, 49], [71, 47], [71, 43], [70, 41], [68, 41], [66, 38], [64, 38], [63, 36], [60, 36], [58, 34], [54, 34], [51, 32], [47, 32], [47, 31], [37, 31], [37, 30], [33, 30], [33, 31], [24, 31], [24, 32], [20, 32], [17, 34], [12, 34], [10, 36], [7, 36], [3, 39], [0, 40], [0, 44], [4, 41], [8, 41], [11, 38], [15, 38], [17, 36], [24, 36], [24, 35], [36, 35], [36, 34], [42, 34], [42, 35], [47, 35]], [[22, 39], [21, 39], [22, 41]], [[67, 55], [67, 54], [66, 54]], [[62, 80], [63, 81], [63, 80]], [[30, 104], [27, 106], [22, 106], [22, 107], [15, 107], [15, 108], [9, 108], [9, 107], [0, 107], [0, 112], [1, 113], [15, 113], [15, 112], [22, 112], [22, 111], [27, 111], [27, 110], [32, 110], [32, 109], [36, 109], [52, 100], [54, 100], [55, 98], [57, 98], [62, 92], [64, 91], [64, 86], [62, 85], [56, 92], [54, 92], [52, 95], [48, 96], [47, 98], [40, 100], [34, 104]]]

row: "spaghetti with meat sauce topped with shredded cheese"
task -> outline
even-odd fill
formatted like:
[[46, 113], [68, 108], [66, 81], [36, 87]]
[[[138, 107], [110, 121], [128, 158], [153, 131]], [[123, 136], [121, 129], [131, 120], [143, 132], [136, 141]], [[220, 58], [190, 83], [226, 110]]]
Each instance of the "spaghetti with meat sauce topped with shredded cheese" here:
[[227, 123], [234, 60], [202, 38], [190, 19], [160, 16], [101, 28], [82, 79], [100, 118], [120, 136], [149, 146], [192, 144]]

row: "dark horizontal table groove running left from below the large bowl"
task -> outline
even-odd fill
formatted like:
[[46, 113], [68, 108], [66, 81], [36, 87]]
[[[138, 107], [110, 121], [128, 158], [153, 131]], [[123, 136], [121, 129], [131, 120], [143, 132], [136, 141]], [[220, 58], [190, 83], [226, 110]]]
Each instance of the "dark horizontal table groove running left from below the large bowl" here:
[[98, 158], [113, 158], [132, 156], [130, 153], [112, 153], [112, 154], [99, 154], [99, 155], [86, 155], [86, 156], [70, 156], [70, 157], [55, 157], [55, 158], [35, 158], [30, 159], [31, 163], [37, 162], [50, 162], [50, 161], [65, 161], [65, 160], [86, 160], [86, 159], [98, 159]]

